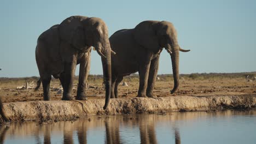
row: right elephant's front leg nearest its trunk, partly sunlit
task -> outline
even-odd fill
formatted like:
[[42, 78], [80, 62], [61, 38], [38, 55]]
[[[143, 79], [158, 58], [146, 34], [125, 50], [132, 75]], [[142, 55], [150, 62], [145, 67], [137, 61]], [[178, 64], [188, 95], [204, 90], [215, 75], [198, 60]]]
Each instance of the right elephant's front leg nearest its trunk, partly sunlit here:
[[159, 57], [156, 57], [151, 61], [150, 68], [149, 68], [147, 96], [150, 98], [156, 98], [156, 95], [153, 93], [153, 90], [155, 87], [156, 77], [158, 76], [158, 67], [159, 67]]

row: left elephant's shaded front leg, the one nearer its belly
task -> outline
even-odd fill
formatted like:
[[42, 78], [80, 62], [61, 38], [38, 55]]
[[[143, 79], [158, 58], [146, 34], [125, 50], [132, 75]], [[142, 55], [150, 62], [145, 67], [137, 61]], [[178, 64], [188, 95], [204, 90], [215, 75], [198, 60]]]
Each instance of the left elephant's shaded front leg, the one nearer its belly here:
[[61, 100], [72, 100], [74, 73], [75, 66], [77, 65], [77, 59], [73, 56], [72, 60], [72, 62], [65, 62], [64, 64], [65, 83], [63, 87], [63, 97]]

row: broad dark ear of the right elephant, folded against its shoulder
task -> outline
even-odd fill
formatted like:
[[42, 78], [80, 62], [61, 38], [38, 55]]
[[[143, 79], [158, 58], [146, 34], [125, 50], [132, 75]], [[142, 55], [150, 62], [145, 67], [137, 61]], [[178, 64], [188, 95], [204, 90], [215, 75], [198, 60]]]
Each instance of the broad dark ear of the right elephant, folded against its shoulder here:
[[134, 28], [134, 38], [137, 44], [154, 52], [159, 51], [159, 42], [156, 35], [157, 21], [143, 21]]

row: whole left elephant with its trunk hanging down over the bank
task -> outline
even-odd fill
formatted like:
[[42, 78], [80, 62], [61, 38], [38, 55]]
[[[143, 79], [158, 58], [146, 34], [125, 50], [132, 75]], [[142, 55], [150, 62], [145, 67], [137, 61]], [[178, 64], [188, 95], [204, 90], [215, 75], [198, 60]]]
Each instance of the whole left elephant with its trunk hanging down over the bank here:
[[[62, 100], [72, 100], [75, 67], [80, 64], [77, 100], [86, 100], [85, 86], [90, 69], [91, 46], [101, 56], [106, 101], [108, 106], [111, 87], [111, 57], [106, 24], [97, 17], [71, 16], [43, 32], [37, 41], [36, 61], [43, 83], [44, 100], [50, 100], [51, 75], [60, 79]], [[40, 84], [38, 81], [38, 84]], [[38, 86], [39, 87], [39, 86]], [[36, 89], [38, 89], [38, 87]]]

